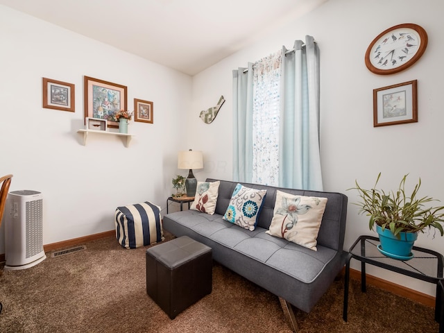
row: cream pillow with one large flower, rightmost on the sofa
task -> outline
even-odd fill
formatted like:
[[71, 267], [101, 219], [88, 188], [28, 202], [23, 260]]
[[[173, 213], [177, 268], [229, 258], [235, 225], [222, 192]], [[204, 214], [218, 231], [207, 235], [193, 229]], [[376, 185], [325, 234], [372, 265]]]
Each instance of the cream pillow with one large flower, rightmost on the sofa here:
[[266, 233], [317, 251], [316, 239], [325, 205], [327, 198], [294, 196], [278, 190], [273, 219]]

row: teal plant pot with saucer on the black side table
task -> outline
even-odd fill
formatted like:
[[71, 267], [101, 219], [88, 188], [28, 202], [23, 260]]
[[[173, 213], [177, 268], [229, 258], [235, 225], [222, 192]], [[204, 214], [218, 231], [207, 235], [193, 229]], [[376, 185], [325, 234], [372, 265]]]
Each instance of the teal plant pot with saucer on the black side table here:
[[409, 260], [413, 258], [411, 249], [418, 238], [418, 232], [400, 232], [400, 239], [389, 229], [382, 230], [379, 225], [376, 225], [376, 232], [379, 234], [381, 242], [378, 246], [379, 252], [393, 259]]

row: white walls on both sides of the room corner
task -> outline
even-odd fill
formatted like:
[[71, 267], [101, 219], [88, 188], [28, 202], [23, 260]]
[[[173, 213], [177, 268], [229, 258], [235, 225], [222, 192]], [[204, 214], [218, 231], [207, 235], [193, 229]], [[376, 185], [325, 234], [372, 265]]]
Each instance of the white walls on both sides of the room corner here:
[[[165, 208], [177, 152], [202, 150], [207, 177], [232, 179], [232, 69], [244, 67], [293, 40], [314, 36], [321, 49], [321, 160], [324, 189], [357, 196], [355, 179], [394, 187], [405, 173], [422, 179], [422, 194], [444, 200], [441, 0], [330, 0], [263, 40], [189, 78], [81, 35], [0, 6], [0, 174], [14, 173], [11, 191], [44, 194], [44, 244], [114, 229], [118, 205], [151, 200]], [[386, 28], [419, 24], [424, 56], [398, 74], [378, 76], [364, 64], [368, 44]], [[154, 102], [154, 124], [130, 123], [129, 148], [118, 137], [81, 144], [83, 76], [128, 86], [133, 99]], [[44, 109], [42, 77], [76, 85], [76, 112]], [[418, 123], [373, 128], [373, 89], [418, 80]], [[226, 102], [210, 125], [200, 110]], [[187, 128], [187, 130], [185, 130]], [[4, 253], [3, 228], [0, 253]], [[345, 249], [371, 234], [367, 219], [348, 206]], [[418, 246], [444, 253], [441, 237], [421, 234]], [[354, 268], [359, 268], [352, 262]], [[368, 268], [368, 273], [434, 295], [431, 284]]]

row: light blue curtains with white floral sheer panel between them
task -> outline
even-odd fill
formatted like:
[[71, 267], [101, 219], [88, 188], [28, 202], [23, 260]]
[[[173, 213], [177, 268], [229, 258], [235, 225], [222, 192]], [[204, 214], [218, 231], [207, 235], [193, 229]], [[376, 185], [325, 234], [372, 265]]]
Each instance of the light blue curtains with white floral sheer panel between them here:
[[233, 71], [235, 181], [323, 190], [319, 86], [319, 50], [311, 36], [305, 44], [296, 40], [294, 50], [283, 47]]

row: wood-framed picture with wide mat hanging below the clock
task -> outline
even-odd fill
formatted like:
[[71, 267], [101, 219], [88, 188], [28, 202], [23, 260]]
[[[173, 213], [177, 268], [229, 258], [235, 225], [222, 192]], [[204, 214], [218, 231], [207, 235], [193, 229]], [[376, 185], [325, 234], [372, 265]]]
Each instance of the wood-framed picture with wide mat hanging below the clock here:
[[373, 127], [416, 122], [417, 80], [373, 89]]

